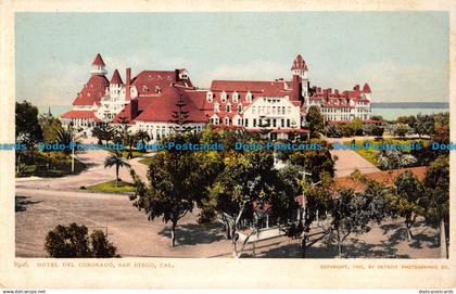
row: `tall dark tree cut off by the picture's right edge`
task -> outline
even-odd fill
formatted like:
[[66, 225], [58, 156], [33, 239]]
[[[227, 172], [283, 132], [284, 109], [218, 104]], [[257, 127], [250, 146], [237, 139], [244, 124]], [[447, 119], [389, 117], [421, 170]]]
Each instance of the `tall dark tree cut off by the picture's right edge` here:
[[427, 222], [438, 228], [449, 221], [449, 158], [439, 156], [426, 172], [422, 207]]

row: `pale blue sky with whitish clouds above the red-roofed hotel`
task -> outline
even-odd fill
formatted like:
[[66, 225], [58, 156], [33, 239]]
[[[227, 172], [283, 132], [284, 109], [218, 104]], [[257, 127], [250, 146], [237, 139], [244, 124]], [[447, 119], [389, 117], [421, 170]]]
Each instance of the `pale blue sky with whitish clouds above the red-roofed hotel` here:
[[193, 84], [289, 78], [368, 81], [377, 102], [448, 100], [446, 12], [17, 13], [16, 99], [69, 105], [100, 52], [109, 69], [186, 67]]

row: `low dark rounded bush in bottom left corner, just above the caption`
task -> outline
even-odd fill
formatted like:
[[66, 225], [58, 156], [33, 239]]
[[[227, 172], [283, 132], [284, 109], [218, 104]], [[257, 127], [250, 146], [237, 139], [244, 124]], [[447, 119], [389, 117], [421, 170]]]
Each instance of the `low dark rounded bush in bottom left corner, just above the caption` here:
[[59, 225], [46, 237], [46, 251], [51, 257], [118, 257], [116, 247], [107, 241], [104, 233], [94, 230], [88, 235], [86, 226], [71, 223], [68, 227]]

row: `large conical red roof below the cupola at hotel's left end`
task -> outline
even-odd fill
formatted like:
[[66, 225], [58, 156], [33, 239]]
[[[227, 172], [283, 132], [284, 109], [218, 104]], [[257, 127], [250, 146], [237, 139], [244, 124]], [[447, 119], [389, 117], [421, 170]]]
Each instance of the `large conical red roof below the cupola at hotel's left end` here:
[[93, 75], [89, 78], [83, 90], [77, 94], [73, 105], [100, 105], [100, 100], [110, 85], [105, 76]]

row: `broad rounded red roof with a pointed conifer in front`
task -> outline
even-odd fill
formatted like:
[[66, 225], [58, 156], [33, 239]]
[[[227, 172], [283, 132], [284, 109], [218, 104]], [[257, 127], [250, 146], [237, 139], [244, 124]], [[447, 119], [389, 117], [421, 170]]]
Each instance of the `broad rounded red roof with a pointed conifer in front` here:
[[186, 104], [182, 111], [188, 112], [186, 120], [195, 123], [207, 123], [207, 117], [204, 113], [194, 105], [189, 94], [178, 87], [170, 87], [163, 91], [163, 93], [151, 99], [149, 106], [136, 118], [138, 122], [173, 122], [176, 118], [173, 117], [174, 112], [178, 111], [176, 105], [180, 99]]

